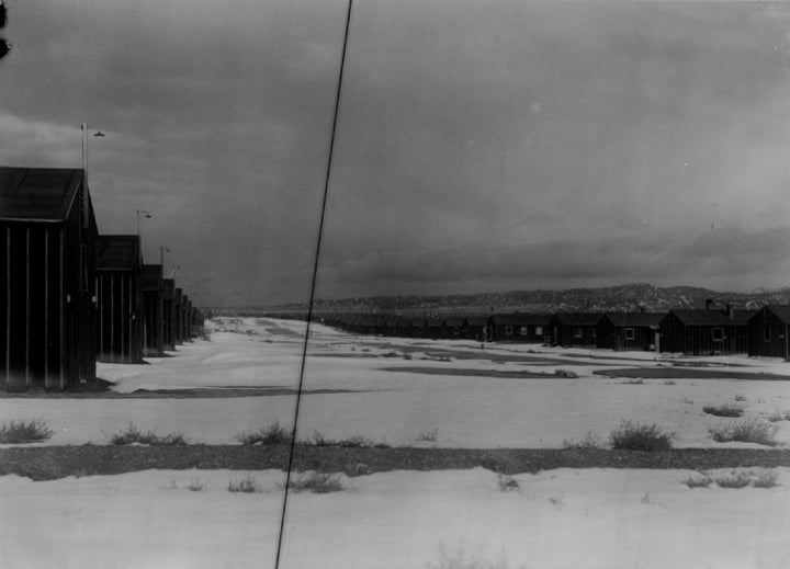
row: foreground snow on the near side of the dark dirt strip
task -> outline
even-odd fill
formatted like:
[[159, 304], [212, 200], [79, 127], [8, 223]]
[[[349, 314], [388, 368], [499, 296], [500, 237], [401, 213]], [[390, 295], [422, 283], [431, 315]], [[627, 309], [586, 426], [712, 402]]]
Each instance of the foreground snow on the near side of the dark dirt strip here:
[[[516, 476], [520, 489], [508, 492], [482, 468], [343, 479], [341, 492], [290, 496], [280, 567], [787, 567], [790, 470], [770, 489], [690, 489], [689, 476], [560, 469]], [[227, 491], [247, 477], [263, 491]], [[7, 476], [0, 566], [271, 568], [281, 482], [271, 470]], [[462, 555], [481, 564], [440, 565]]]

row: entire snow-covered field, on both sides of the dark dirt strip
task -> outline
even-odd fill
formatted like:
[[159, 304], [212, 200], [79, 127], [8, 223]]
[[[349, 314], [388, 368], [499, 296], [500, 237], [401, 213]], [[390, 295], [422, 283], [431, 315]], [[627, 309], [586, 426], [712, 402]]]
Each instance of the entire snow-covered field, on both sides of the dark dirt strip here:
[[[211, 342], [179, 346], [151, 365], [100, 364], [99, 375], [116, 382], [121, 392], [294, 388], [303, 329], [290, 321], [215, 322]], [[331, 439], [364, 435], [394, 445], [561, 447], [588, 432], [605, 442], [622, 419], [632, 419], [675, 432], [676, 446], [723, 447], [737, 443], [714, 443], [708, 428], [737, 419], [708, 416], [703, 406], [737, 402], [744, 418], [790, 410], [790, 383], [781, 380], [634, 385], [592, 375], [612, 365], [669, 365], [650, 353], [535, 345], [481, 350], [473, 342], [353, 338], [315, 326], [308, 354], [305, 389], [338, 392], [303, 398], [302, 437], [317, 430]], [[512, 355], [533, 360], [492, 362]], [[790, 375], [790, 364], [777, 360], [693, 362], [706, 369]], [[426, 375], [413, 367], [481, 375]], [[484, 375], [557, 368], [579, 377]], [[181, 432], [190, 442], [226, 444], [275, 420], [290, 425], [294, 399], [0, 399], [0, 418], [46, 419], [56, 433], [38, 444], [103, 444], [129, 422], [161, 434]], [[777, 440], [790, 443], [790, 421], [776, 424]], [[433, 431], [435, 443], [415, 442]], [[516, 476], [520, 489], [507, 492], [483, 469], [343, 478], [341, 492], [291, 494], [281, 567], [783, 568], [790, 559], [790, 469], [776, 474], [774, 488], [691, 489], [682, 483], [695, 475], [690, 471], [561, 469]], [[228, 482], [246, 476], [263, 491], [227, 491]], [[278, 471], [223, 470], [47, 482], [0, 477], [0, 567], [273, 567], [282, 480]], [[481, 562], [472, 564], [475, 559]]]

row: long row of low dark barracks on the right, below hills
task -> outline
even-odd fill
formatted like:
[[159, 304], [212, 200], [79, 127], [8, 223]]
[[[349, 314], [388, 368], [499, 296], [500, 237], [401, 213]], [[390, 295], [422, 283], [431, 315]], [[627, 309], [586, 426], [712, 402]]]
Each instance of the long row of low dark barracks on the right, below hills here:
[[[285, 316], [286, 315], [281, 315]], [[520, 342], [614, 351], [790, 360], [790, 306], [759, 310], [715, 308], [666, 312], [556, 312], [406, 318], [394, 315], [325, 315], [321, 322], [356, 334]]]

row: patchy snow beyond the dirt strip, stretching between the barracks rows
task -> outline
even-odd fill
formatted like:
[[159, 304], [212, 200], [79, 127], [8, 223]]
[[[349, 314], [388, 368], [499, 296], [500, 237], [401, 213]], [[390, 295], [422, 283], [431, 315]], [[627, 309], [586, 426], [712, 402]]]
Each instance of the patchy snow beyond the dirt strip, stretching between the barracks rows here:
[[[230, 331], [218, 331], [222, 329]], [[238, 326], [215, 323], [211, 342], [179, 346], [170, 357], [151, 359], [150, 365], [99, 364], [99, 375], [116, 382], [115, 390], [121, 392], [295, 388], [303, 352], [298, 334], [303, 331], [304, 323], [296, 321], [244, 319]], [[676, 446], [721, 446], [710, 439], [708, 429], [733, 420], [707, 414], [704, 406], [737, 403], [744, 407], [744, 419], [790, 410], [790, 382], [677, 378], [645, 379], [639, 385], [592, 375], [594, 369], [630, 367], [639, 361], [645, 366], [669, 365], [666, 359], [655, 361], [655, 354], [646, 352], [563, 351], [515, 344], [481, 350], [474, 342], [354, 338], [323, 326], [315, 326], [312, 332], [304, 388], [340, 392], [312, 394], [302, 399], [301, 437], [319, 431], [330, 439], [364, 435], [375, 442], [405, 445], [414, 444], [420, 433], [436, 431], [433, 444], [438, 446], [561, 447], [564, 441], [578, 441], [588, 432], [606, 441], [625, 419], [656, 423], [674, 432]], [[455, 350], [455, 355], [450, 350]], [[533, 361], [492, 362], [514, 355]], [[440, 361], [448, 357], [451, 361]], [[706, 365], [707, 371], [790, 373], [790, 364], [777, 360], [706, 357], [693, 362]], [[396, 371], [383, 371], [385, 367]], [[428, 375], [414, 373], [414, 367], [478, 369], [481, 374], [492, 369], [553, 374], [560, 368], [579, 377]], [[684, 369], [691, 373], [693, 368]], [[240, 432], [275, 421], [290, 426], [294, 403], [293, 395], [0, 399], [0, 417], [45, 418], [55, 431], [47, 444], [103, 444], [110, 434], [132, 422], [160, 434], [181, 432], [193, 443], [229, 444]], [[776, 424], [777, 440], [790, 443], [790, 421]]]

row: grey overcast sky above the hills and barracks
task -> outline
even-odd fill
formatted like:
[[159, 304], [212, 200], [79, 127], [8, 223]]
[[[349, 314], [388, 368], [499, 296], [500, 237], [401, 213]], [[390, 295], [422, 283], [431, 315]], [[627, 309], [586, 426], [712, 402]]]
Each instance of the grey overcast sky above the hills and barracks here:
[[[213, 306], [309, 292], [345, 0], [10, 0], [0, 163]], [[790, 284], [790, 5], [354, 0], [318, 296]]]

